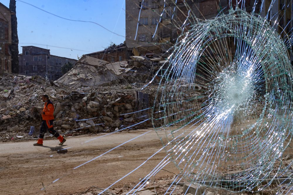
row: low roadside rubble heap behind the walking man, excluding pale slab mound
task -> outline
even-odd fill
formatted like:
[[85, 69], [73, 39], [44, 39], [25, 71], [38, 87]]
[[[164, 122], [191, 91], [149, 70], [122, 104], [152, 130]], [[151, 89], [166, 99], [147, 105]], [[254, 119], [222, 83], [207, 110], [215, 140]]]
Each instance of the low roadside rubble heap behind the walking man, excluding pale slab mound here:
[[[54, 103], [54, 128], [59, 133], [76, 135], [153, 127], [148, 119], [158, 86], [139, 92], [144, 84], [73, 89], [40, 76], [0, 77], [0, 140], [38, 135], [42, 119], [31, 108], [43, 109], [42, 94], [48, 94]], [[30, 137], [32, 126], [35, 132]]]

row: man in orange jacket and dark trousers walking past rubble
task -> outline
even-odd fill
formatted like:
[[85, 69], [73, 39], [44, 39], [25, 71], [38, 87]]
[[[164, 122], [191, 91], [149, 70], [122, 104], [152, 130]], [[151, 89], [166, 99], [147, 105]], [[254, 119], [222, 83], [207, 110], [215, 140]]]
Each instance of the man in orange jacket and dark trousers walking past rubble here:
[[42, 114], [43, 120], [42, 120], [42, 125], [41, 125], [41, 129], [40, 129], [40, 136], [39, 136], [38, 142], [35, 143], [34, 146], [42, 146], [43, 145], [44, 135], [47, 132], [47, 130], [49, 131], [49, 133], [51, 133], [52, 135], [57, 137], [57, 139], [59, 139], [59, 141], [60, 141], [59, 145], [62, 145], [62, 144], [64, 144], [66, 139], [63, 138], [62, 135], [59, 135], [59, 133], [56, 132], [53, 127], [54, 104], [52, 103], [52, 101], [50, 101], [49, 96], [47, 94], [42, 95], [42, 101], [45, 102], [45, 106], [44, 106], [43, 111], [40, 111], [40, 114]]

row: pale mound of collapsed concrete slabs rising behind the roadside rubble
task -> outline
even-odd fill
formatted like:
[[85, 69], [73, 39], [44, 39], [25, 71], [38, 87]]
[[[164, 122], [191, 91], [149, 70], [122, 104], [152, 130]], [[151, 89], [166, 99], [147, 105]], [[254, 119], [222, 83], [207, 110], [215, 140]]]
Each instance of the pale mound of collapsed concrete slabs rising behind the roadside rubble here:
[[[107, 62], [83, 55], [75, 66], [55, 83], [70, 87], [80, 86], [106, 86], [120, 82], [143, 82], [161, 66], [161, 58], [147, 58], [131, 56], [134, 60]], [[146, 74], [147, 73], [147, 74]]]

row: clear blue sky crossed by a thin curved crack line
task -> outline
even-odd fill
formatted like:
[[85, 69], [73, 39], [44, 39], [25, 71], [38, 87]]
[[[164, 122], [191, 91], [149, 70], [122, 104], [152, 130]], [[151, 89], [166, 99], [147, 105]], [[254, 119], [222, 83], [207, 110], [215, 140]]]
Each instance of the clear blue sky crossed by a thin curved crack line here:
[[[94, 23], [58, 18], [21, 1], [63, 18], [98, 23], [121, 36]], [[50, 49], [52, 55], [77, 59], [77, 56], [103, 50], [111, 42], [125, 41], [125, 0], [21, 1], [16, 1], [20, 53], [21, 46], [33, 45]], [[1, 3], [9, 7], [9, 0], [1, 0]]]

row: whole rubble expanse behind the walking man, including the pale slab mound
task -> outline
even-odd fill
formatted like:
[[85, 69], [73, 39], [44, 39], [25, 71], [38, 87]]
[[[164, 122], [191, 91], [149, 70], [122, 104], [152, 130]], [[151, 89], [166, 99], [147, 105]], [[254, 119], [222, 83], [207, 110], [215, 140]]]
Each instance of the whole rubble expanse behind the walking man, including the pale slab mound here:
[[[49, 95], [54, 103], [54, 129], [61, 134], [128, 131], [174, 121], [174, 116], [164, 117], [166, 113], [161, 112], [159, 101], [153, 105], [155, 98], [160, 100], [161, 95], [172, 90], [172, 85], [161, 86], [158, 90], [158, 77], [142, 91], [164, 61], [141, 56], [132, 56], [132, 59], [108, 63], [83, 56], [73, 69], [55, 82], [37, 75], [0, 77], [0, 140], [38, 136], [42, 120], [38, 110], [44, 105], [42, 94]], [[190, 90], [190, 86], [185, 88], [183, 98], [193, 98], [201, 93]], [[204, 100], [196, 101], [200, 105]], [[180, 106], [173, 106], [170, 111], [182, 113], [180, 109]], [[160, 120], [152, 121], [151, 117]], [[176, 125], [180, 124], [177, 122]], [[29, 136], [32, 127], [35, 131]]]

